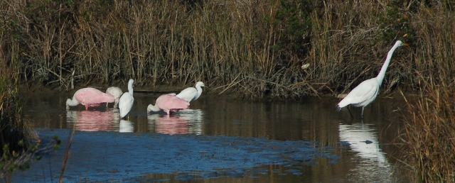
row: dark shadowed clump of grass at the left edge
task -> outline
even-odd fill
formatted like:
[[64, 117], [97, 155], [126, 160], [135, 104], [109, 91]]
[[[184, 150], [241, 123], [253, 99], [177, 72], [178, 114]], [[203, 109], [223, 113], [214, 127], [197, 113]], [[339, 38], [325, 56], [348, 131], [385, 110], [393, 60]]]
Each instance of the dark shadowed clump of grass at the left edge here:
[[[40, 147], [38, 135], [22, 117], [16, 71], [16, 62], [0, 59], [0, 177], [6, 182], [17, 170], [27, 170], [31, 160], [40, 159], [36, 153], [49, 150]], [[57, 137], [54, 140], [53, 148], [58, 148], [60, 140]]]

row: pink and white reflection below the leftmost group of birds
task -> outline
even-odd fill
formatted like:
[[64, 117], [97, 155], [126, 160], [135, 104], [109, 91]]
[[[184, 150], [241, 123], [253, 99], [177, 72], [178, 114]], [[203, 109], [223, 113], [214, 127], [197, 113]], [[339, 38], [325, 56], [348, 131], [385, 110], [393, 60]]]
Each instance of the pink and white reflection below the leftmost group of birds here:
[[[77, 131], [132, 131], [131, 121], [120, 123], [119, 109], [107, 111], [66, 111], [66, 122]], [[122, 121], [120, 121], [122, 122]], [[130, 126], [119, 129], [119, 126]]]

